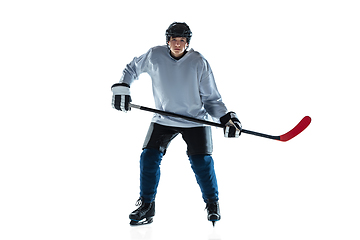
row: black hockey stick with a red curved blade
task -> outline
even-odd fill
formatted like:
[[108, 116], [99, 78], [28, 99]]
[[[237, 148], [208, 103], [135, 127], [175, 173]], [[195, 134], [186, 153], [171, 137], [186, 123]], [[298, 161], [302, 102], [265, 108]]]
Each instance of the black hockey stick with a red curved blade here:
[[[161, 111], [161, 110], [157, 110], [157, 109], [153, 109], [153, 108], [135, 105], [132, 103], [130, 103], [129, 105], [130, 105], [130, 107], [133, 107], [136, 109], [140, 109], [140, 110], [152, 112], [152, 113], [158, 113], [158, 114], [164, 115], [164, 116], [182, 118], [182, 119], [185, 119], [185, 120], [188, 120], [191, 122], [201, 123], [201, 124], [214, 126], [214, 127], [220, 127], [220, 128], [225, 127], [224, 125], [222, 125], [220, 123], [215, 123], [215, 122], [205, 121], [205, 120], [201, 120], [201, 119], [197, 119], [197, 118], [187, 117], [187, 116], [183, 116], [183, 115], [172, 113], [172, 112], [165, 112], [165, 111]], [[302, 131], [304, 131], [305, 128], [307, 128], [307, 126], [309, 126], [310, 123], [311, 123], [311, 118], [309, 116], [305, 116], [303, 119], [301, 119], [301, 121], [293, 129], [291, 129], [289, 132], [287, 132], [283, 135], [280, 135], [280, 136], [267, 135], [264, 133], [258, 133], [258, 132], [254, 132], [254, 131], [250, 131], [250, 130], [246, 130], [246, 129], [242, 129], [241, 132], [246, 133], [246, 134], [255, 135], [258, 137], [264, 137], [264, 138], [278, 140], [281, 142], [286, 142], [286, 141], [289, 141], [290, 139], [296, 137]]]

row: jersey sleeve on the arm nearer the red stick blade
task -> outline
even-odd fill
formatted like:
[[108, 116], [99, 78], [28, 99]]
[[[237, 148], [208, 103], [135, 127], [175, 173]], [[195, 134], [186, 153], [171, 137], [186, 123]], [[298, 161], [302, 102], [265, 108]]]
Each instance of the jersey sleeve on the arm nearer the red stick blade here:
[[204, 60], [203, 72], [200, 79], [200, 96], [205, 110], [215, 121], [218, 121], [220, 117], [228, 112], [217, 89], [213, 72], [206, 60]]

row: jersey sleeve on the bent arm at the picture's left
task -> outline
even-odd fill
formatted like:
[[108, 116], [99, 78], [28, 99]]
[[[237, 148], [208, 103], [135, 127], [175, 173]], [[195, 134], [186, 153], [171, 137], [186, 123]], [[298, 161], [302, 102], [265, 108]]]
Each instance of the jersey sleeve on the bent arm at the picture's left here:
[[152, 49], [140, 57], [135, 57], [127, 64], [120, 79], [120, 83], [126, 83], [130, 86], [134, 80], [139, 79], [139, 75], [148, 70], [151, 53]]

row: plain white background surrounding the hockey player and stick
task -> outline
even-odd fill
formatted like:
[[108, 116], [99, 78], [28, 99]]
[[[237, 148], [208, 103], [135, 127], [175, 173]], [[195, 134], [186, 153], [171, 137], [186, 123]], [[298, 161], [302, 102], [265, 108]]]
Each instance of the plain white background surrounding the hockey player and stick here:
[[[359, 239], [356, 1], [2, 1], [1, 239]], [[221, 3], [220, 3], [221, 2]], [[222, 220], [175, 139], [152, 225], [131, 228], [152, 114], [111, 108], [133, 57], [185, 21], [245, 129], [213, 128]], [[151, 80], [131, 88], [153, 106]]]

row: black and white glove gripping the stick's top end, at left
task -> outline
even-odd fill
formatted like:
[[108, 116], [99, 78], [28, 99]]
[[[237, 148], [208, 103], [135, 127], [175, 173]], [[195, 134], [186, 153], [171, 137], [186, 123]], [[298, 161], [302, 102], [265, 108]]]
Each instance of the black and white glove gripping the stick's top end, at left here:
[[114, 85], [112, 85], [111, 91], [113, 92], [113, 98], [112, 98], [113, 108], [123, 112], [130, 111], [131, 110], [129, 106], [129, 103], [131, 102], [130, 86], [126, 83], [115, 83]]

